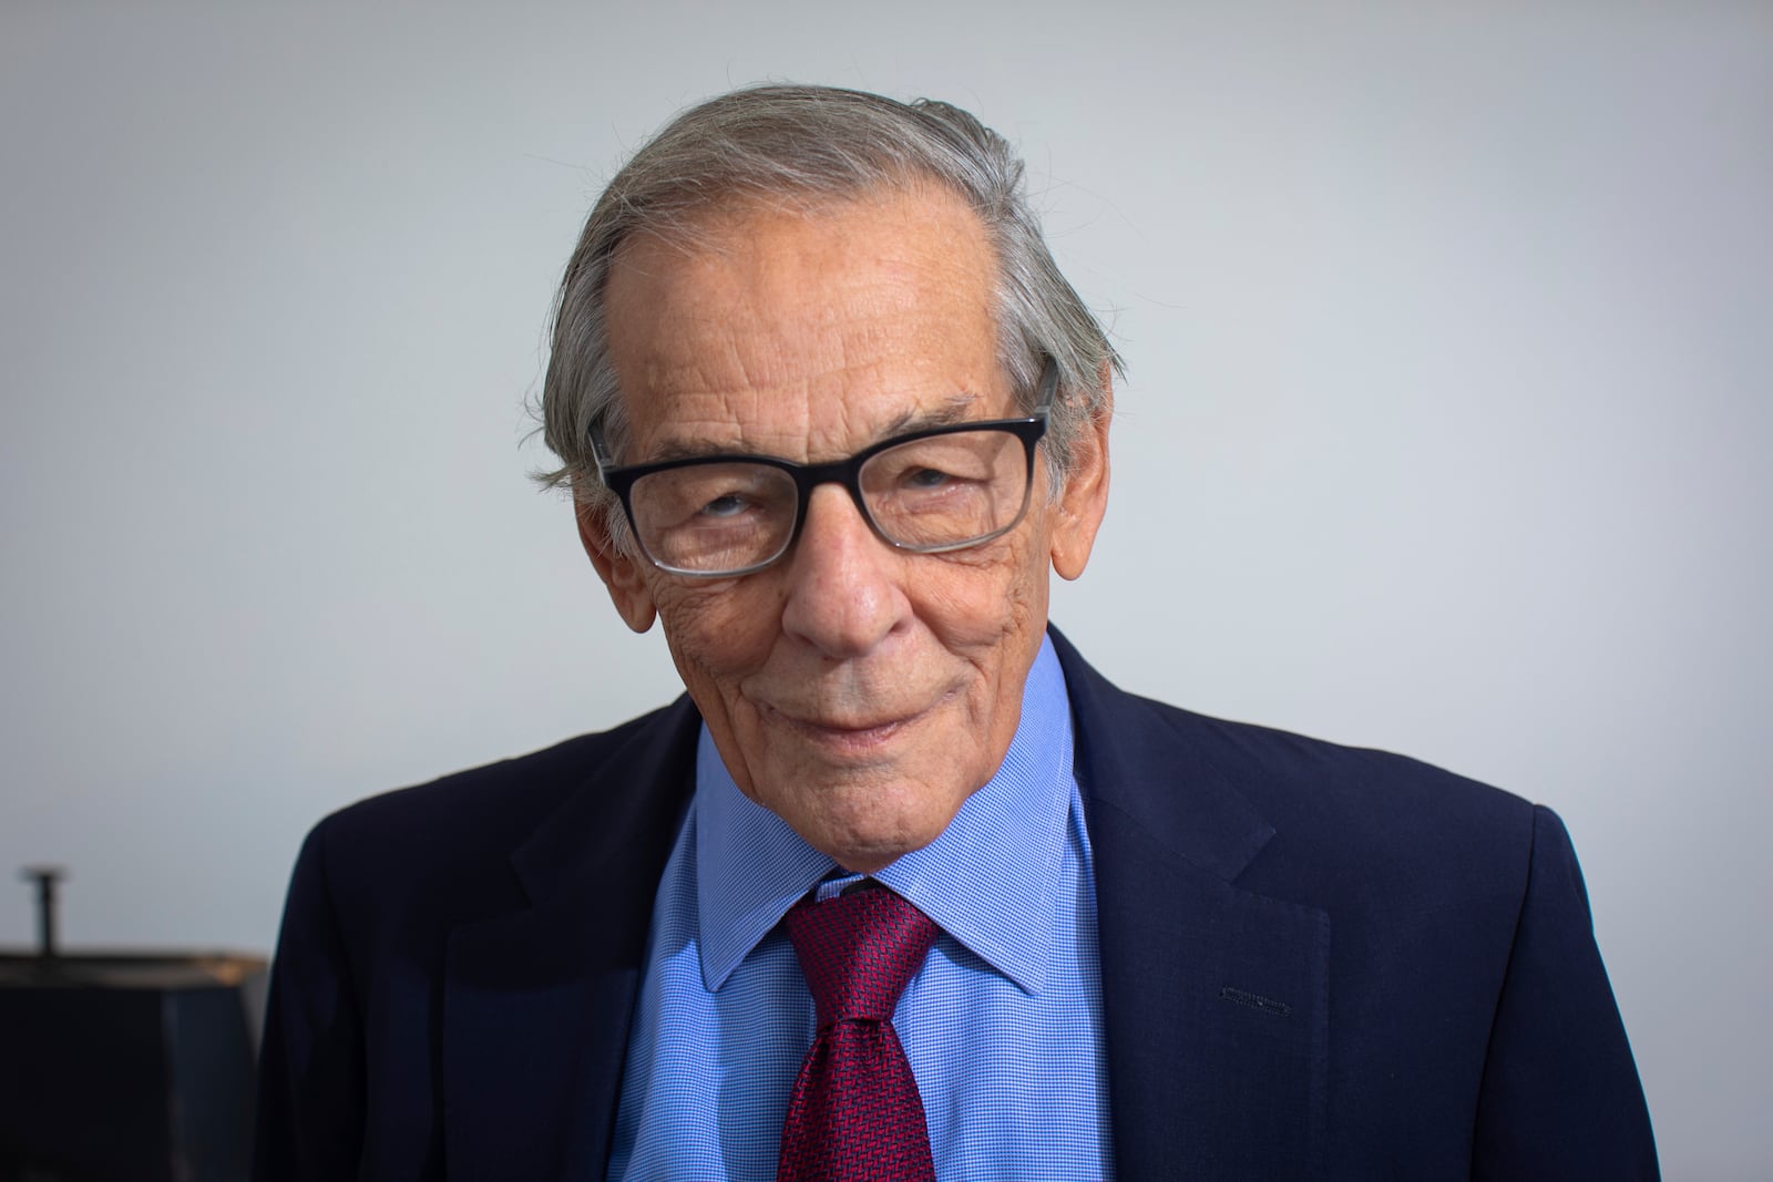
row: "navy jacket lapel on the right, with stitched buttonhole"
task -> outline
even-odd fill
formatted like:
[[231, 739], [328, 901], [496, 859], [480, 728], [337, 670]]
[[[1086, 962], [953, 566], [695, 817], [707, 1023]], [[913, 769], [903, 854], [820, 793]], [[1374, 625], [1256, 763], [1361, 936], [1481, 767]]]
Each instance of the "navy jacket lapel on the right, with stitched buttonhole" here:
[[1310, 1177], [1330, 920], [1236, 884], [1275, 831], [1215, 744], [1055, 647], [1096, 863], [1119, 1175]]

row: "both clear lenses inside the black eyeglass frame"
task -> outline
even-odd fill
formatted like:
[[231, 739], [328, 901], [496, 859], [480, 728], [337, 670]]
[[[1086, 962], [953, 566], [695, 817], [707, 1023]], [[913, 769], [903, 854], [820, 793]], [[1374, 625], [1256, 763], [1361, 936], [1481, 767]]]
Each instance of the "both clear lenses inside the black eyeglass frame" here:
[[[1000, 429], [908, 439], [858, 473], [874, 528], [906, 549], [966, 546], [1012, 526], [1028, 500], [1028, 452]], [[629, 491], [640, 544], [654, 562], [727, 572], [777, 558], [794, 537], [800, 493], [784, 468], [709, 461], [640, 477]]]

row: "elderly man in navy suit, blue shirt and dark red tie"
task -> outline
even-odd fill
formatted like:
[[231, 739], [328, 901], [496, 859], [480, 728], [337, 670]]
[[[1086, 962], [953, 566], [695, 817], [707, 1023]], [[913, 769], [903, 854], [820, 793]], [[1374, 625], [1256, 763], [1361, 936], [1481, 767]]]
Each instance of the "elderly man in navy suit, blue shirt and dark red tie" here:
[[615, 177], [550, 478], [688, 696], [316, 828], [259, 1177], [1654, 1177], [1557, 817], [1048, 627], [1115, 356], [1019, 175], [764, 87]]

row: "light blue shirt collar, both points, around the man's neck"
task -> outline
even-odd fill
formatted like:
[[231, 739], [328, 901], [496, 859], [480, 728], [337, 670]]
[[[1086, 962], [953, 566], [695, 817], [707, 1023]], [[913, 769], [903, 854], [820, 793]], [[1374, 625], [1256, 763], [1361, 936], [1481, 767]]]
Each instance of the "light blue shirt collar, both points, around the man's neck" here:
[[[1039, 992], [1057, 939], [1071, 797], [1071, 705], [1044, 638], [1004, 766], [934, 842], [874, 877], [1023, 991]], [[706, 725], [691, 824], [702, 982], [713, 991], [835, 863], [739, 792]]]

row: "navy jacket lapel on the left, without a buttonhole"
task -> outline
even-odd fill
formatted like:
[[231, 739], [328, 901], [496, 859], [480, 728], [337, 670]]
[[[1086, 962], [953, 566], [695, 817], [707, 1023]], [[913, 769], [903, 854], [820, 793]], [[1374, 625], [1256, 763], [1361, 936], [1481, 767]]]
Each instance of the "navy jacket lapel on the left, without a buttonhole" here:
[[512, 856], [530, 902], [450, 932], [450, 1178], [601, 1178], [660, 875], [693, 789], [679, 700]]

